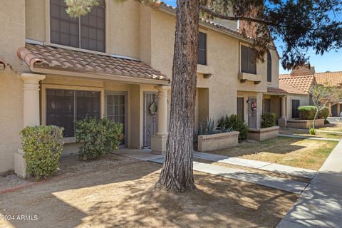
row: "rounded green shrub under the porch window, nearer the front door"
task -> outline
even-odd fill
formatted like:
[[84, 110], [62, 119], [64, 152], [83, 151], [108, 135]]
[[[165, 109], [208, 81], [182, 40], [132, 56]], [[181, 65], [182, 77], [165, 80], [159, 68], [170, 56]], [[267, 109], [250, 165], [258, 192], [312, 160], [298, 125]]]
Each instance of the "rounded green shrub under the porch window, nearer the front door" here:
[[123, 125], [107, 118], [85, 118], [75, 122], [76, 142], [80, 147], [80, 160], [92, 160], [118, 150], [123, 139]]

